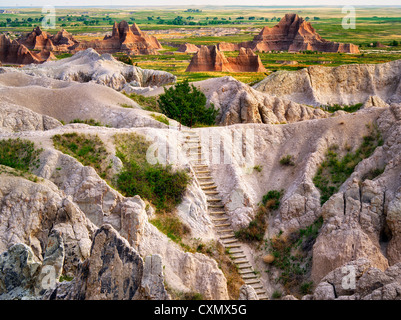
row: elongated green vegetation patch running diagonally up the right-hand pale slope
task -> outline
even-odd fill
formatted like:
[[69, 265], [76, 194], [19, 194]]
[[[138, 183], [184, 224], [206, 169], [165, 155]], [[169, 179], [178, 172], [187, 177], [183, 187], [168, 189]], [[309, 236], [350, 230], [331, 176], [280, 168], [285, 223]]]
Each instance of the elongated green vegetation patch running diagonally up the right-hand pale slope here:
[[[337, 145], [330, 146], [326, 159], [320, 164], [313, 178], [315, 186], [320, 190], [320, 202], [323, 205], [354, 172], [356, 165], [370, 157], [377, 146], [383, 144], [383, 139], [374, 125], [368, 125], [369, 134], [363, 137], [361, 146], [354, 152], [347, 152], [340, 157]], [[375, 174], [375, 173], [373, 173]], [[376, 173], [377, 174], [377, 173]]]

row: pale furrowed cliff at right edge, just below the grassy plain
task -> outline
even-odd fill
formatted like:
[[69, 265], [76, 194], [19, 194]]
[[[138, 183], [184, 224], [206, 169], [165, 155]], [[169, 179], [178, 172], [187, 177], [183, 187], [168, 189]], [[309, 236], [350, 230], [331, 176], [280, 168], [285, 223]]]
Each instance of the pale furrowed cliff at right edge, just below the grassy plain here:
[[[371, 96], [391, 104], [401, 101], [400, 72], [401, 60], [339, 67], [311, 66], [294, 72], [275, 72], [253, 88], [314, 106], [354, 105], [370, 100]], [[379, 104], [377, 99], [376, 104]]]

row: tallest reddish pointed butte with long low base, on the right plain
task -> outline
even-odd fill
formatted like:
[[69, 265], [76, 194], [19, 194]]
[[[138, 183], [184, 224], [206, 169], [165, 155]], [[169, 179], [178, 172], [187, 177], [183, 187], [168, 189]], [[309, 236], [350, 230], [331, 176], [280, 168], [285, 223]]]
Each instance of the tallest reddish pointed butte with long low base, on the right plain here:
[[237, 44], [219, 44], [221, 51], [235, 51], [241, 47], [260, 52], [311, 50], [359, 53], [358, 46], [354, 44], [331, 42], [323, 39], [316, 33], [309, 22], [306, 22], [297, 14], [286, 14], [274, 27], [264, 27], [252, 41]]

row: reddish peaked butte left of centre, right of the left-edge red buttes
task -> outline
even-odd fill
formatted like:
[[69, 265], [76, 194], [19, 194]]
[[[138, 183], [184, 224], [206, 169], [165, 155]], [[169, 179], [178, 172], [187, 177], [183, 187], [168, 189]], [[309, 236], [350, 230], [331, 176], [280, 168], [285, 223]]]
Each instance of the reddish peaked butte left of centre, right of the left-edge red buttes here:
[[162, 49], [161, 44], [154, 36], [142, 32], [138, 25], [132, 26], [126, 21], [113, 25], [112, 34], [103, 40], [82, 41], [73, 49], [73, 52], [93, 48], [99, 53], [125, 52], [127, 54], [156, 55]]

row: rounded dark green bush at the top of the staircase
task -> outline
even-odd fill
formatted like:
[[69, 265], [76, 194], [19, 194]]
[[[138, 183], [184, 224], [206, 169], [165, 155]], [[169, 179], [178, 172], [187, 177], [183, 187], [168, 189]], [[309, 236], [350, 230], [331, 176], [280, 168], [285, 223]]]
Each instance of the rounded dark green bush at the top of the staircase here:
[[185, 126], [213, 125], [218, 110], [206, 107], [206, 96], [187, 79], [170, 88], [164, 88], [159, 96], [159, 108], [169, 118]]

